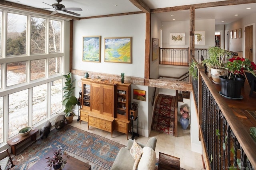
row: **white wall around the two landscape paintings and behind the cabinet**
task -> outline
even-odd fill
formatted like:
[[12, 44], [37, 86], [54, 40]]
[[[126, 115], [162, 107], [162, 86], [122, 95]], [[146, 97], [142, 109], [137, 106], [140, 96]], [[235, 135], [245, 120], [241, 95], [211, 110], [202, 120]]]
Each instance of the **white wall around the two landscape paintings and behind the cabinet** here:
[[[108, 74], [120, 74], [125, 76], [135, 76], [144, 78], [145, 63], [145, 35], [146, 35], [146, 15], [134, 14], [126, 16], [114, 16], [106, 18], [95, 18], [74, 21], [73, 39], [73, 69], [93, 72], [104, 72]], [[101, 36], [101, 62], [82, 61], [83, 36]], [[132, 63], [110, 63], [104, 62], [104, 38], [106, 37], [132, 37]], [[91, 76], [91, 75], [90, 75]], [[81, 88], [77, 87], [77, 81], [81, 76], [74, 75], [76, 79], [76, 96]], [[149, 125], [149, 92], [148, 86], [132, 84], [133, 89], [146, 90], [146, 102], [133, 99], [132, 103], [138, 104], [138, 133], [149, 136], [151, 127]], [[74, 108], [78, 111], [78, 107]]]

